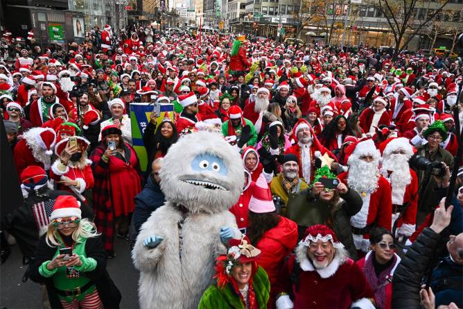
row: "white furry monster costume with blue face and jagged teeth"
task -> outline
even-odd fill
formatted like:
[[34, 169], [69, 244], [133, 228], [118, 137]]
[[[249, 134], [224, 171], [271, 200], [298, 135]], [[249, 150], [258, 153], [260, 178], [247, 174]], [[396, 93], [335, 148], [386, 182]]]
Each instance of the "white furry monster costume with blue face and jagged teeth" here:
[[[141, 226], [132, 251], [140, 307], [197, 308], [216, 257], [227, 252], [220, 228], [241, 235], [228, 209], [243, 188], [243, 160], [222, 135], [200, 131], [172, 145], [160, 176], [166, 203]], [[149, 249], [143, 241], [152, 235], [163, 240]]]

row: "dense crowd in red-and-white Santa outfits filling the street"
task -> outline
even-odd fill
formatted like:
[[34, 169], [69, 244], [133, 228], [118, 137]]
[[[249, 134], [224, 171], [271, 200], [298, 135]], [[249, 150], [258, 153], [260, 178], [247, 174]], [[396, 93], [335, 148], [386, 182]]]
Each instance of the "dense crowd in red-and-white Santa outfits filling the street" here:
[[[183, 160], [182, 151], [204, 143], [192, 167], [230, 172], [210, 141], [173, 147], [202, 131], [239, 153], [233, 168], [245, 181], [229, 208], [237, 229], [217, 231], [227, 250], [204, 270], [211, 276], [195, 287], [198, 299], [184, 303], [463, 307], [461, 58], [151, 26], [128, 32], [115, 40], [106, 25], [84, 44], [43, 50], [32, 31], [26, 40], [1, 37], [2, 126], [24, 196], [1, 219], [2, 262], [16, 241], [52, 308], [119, 307], [123, 293], [105, 270], [114, 237], [128, 240], [142, 274], [149, 258], [141, 248], [166, 242], [137, 237], [164, 213], [171, 180], [163, 169], [176, 164], [164, 157], [177, 151]], [[159, 122], [153, 111], [143, 129], [146, 166], [133, 141], [132, 103], [173, 103], [173, 117]], [[177, 206], [181, 231], [196, 212]], [[177, 237], [182, 256], [186, 236]], [[168, 286], [157, 285], [166, 287], [163, 301]], [[151, 303], [140, 297], [142, 308], [156, 307], [152, 295]]]

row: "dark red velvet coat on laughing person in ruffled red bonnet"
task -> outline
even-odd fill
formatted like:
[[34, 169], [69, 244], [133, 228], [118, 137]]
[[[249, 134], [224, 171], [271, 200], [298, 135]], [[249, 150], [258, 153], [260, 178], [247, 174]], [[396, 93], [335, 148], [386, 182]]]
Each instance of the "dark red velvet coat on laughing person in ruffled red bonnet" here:
[[[295, 256], [290, 256], [279, 272], [275, 292], [277, 294], [292, 292], [294, 294], [294, 309], [348, 309], [352, 305], [355, 307], [356, 304], [353, 303], [356, 301], [367, 303], [369, 302], [367, 299], [374, 299], [374, 294], [360, 267], [350, 258], [345, 258], [341, 262], [336, 261], [338, 259], [335, 258], [325, 269], [315, 270], [306, 258], [304, 262], [301, 262], [299, 288], [296, 289], [290, 278], [295, 265]], [[303, 264], [308, 265], [308, 267], [304, 267]], [[304, 268], [311, 270], [304, 271]], [[288, 295], [283, 297], [289, 299]], [[359, 307], [374, 308], [371, 302], [369, 305], [369, 307]]]

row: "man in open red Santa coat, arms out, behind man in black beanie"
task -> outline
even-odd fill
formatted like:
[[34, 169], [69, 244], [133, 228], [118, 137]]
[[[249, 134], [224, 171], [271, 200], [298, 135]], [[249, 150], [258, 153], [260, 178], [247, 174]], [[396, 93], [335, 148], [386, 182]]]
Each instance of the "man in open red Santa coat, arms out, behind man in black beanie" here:
[[292, 128], [292, 138], [296, 144], [286, 149], [285, 154], [292, 153], [297, 157], [299, 163], [299, 177], [311, 183], [315, 176], [315, 157], [323, 156], [325, 153], [335, 159], [331, 151], [326, 149], [313, 133], [312, 127], [305, 119], [299, 119]]

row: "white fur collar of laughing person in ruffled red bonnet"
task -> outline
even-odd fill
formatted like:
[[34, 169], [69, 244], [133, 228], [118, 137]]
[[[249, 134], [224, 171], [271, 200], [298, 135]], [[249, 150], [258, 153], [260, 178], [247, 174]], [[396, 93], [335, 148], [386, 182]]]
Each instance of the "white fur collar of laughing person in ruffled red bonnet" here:
[[307, 256], [307, 247], [304, 244], [299, 244], [296, 248], [296, 260], [301, 265], [304, 272], [317, 272], [322, 278], [329, 278], [333, 276], [338, 268], [347, 260], [347, 251], [344, 248], [335, 248], [336, 253], [329, 265], [323, 269], [315, 269], [311, 260]]

